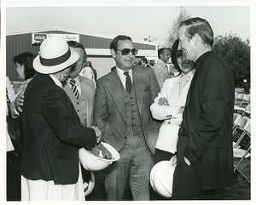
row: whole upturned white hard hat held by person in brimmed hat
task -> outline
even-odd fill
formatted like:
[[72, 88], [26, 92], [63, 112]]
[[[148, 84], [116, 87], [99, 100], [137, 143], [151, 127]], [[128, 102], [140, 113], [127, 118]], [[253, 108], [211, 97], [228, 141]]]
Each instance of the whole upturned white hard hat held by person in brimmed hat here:
[[112, 145], [104, 142], [96, 145], [91, 151], [87, 151], [84, 148], [79, 149], [79, 160], [83, 167], [90, 171], [99, 171], [107, 168], [119, 158], [119, 152]]

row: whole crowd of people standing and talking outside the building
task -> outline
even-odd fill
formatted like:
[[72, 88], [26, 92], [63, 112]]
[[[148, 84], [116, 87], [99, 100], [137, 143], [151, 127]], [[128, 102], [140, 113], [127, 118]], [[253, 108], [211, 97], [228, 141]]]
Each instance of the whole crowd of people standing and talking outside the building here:
[[[61, 37], [45, 39], [38, 56], [15, 56], [24, 83], [15, 94], [7, 78], [7, 118], [22, 125], [21, 201], [84, 201], [79, 148], [101, 142], [120, 155], [103, 170], [109, 201], [123, 200], [127, 183], [136, 201], [214, 199], [232, 185], [234, 80], [212, 43], [207, 20], [184, 20], [172, 49], [139, 65], [131, 37], [119, 35], [110, 43], [115, 66], [99, 79], [86, 48]], [[172, 198], [150, 185], [162, 161], [176, 166]]]

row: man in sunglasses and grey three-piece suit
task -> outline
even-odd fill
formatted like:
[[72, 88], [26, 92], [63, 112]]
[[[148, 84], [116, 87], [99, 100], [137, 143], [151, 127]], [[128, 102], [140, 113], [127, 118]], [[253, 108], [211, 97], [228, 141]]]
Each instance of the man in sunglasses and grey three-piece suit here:
[[160, 91], [151, 68], [134, 67], [137, 49], [131, 37], [115, 37], [110, 44], [115, 69], [97, 81], [94, 125], [102, 140], [119, 151], [120, 159], [105, 169], [107, 200], [124, 199], [128, 181], [133, 200], [149, 200], [149, 174], [159, 123], [150, 105]]

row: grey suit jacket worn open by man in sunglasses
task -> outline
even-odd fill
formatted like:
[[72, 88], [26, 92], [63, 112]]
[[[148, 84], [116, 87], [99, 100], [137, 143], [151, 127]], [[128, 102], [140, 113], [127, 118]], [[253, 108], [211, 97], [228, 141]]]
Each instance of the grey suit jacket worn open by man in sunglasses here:
[[[148, 149], [154, 154], [160, 123], [150, 113], [150, 105], [160, 91], [151, 68], [132, 68], [132, 86], [137, 98], [137, 108], [143, 126], [143, 135]], [[121, 94], [121, 81], [116, 70], [97, 81], [94, 107], [94, 124], [102, 132], [102, 140], [120, 151], [126, 141], [125, 106]]]

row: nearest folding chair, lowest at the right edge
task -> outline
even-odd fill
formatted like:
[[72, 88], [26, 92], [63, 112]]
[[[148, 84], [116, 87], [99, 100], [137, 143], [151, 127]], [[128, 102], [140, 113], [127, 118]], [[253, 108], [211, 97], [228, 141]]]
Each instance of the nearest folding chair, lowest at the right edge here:
[[[249, 138], [251, 138], [251, 124], [250, 124], [250, 123], [248, 124], [247, 128], [245, 128], [243, 134], [241, 134], [240, 139], [237, 140], [236, 145], [235, 145], [236, 147], [239, 145], [239, 143], [241, 143], [241, 140], [244, 138], [244, 136], [245, 136], [246, 134], [247, 134], [247, 136], [248, 136]], [[235, 146], [234, 146], [234, 147], [235, 147]], [[238, 149], [238, 150], [240, 150], [240, 149]], [[241, 164], [241, 162], [242, 162], [245, 158], [247, 158], [248, 153], [249, 153], [250, 150], [251, 150], [251, 141], [249, 140], [248, 145], [246, 145], [246, 146], [245, 146], [245, 149], [242, 150], [242, 151], [243, 151], [243, 154], [242, 154], [242, 156], [241, 156], [241, 159], [239, 160], [239, 162], [237, 162], [237, 164], [235, 165], [235, 168], [234, 168], [234, 172], [235, 172], [236, 170], [238, 170], [239, 173], [240, 173], [245, 179], [247, 179], [247, 177], [245, 176], [245, 174], [243, 174], [243, 173], [241, 172], [241, 170], [238, 169], [238, 166]], [[236, 148], [234, 148], [234, 154], [235, 154], [235, 152], [236, 152]], [[247, 179], [247, 181], [248, 181], [248, 182], [251, 182], [250, 179]]]

